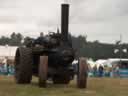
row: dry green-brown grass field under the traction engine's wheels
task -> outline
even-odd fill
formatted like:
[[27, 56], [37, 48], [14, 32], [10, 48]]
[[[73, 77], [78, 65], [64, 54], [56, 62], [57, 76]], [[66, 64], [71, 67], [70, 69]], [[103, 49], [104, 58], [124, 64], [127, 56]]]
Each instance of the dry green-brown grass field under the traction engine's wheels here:
[[16, 85], [13, 77], [0, 77], [0, 96], [128, 96], [128, 79], [88, 78], [87, 89], [78, 89], [75, 81], [39, 88], [37, 78], [30, 85]]

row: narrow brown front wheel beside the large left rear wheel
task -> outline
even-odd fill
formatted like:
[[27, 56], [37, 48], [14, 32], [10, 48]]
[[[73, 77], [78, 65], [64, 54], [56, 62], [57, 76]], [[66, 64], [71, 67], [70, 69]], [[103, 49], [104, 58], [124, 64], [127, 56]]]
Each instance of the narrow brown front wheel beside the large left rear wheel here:
[[46, 87], [48, 74], [48, 56], [40, 56], [39, 62], [39, 87]]

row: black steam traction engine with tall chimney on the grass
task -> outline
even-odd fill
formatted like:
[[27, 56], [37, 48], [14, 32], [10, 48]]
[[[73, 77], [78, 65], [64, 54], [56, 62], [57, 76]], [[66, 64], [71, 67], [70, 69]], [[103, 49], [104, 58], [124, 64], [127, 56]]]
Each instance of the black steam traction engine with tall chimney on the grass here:
[[[72, 67], [75, 52], [68, 35], [69, 4], [62, 4], [61, 33], [50, 32], [45, 37], [32, 40], [25, 47], [17, 48], [15, 55], [15, 80], [29, 84], [32, 75], [39, 77], [39, 86], [46, 87], [47, 80], [54, 84], [68, 84], [75, 75]], [[87, 64], [79, 58], [77, 85], [86, 87]]]

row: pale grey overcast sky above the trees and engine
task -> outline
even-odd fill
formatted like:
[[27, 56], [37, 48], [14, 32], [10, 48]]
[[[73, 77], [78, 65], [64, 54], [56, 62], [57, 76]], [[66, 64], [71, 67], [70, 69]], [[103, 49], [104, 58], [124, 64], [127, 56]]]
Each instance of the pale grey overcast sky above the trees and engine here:
[[[60, 28], [64, 0], [0, 0], [0, 36], [20, 32], [37, 37]], [[128, 0], [65, 0], [70, 4], [69, 32], [88, 41], [128, 43]]]

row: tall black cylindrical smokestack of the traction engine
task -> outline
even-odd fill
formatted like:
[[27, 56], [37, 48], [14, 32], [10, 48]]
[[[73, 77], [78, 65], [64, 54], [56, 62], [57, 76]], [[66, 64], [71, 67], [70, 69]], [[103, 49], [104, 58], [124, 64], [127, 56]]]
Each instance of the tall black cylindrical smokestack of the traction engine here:
[[64, 41], [68, 40], [69, 4], [61, 5], [61, 34]]

